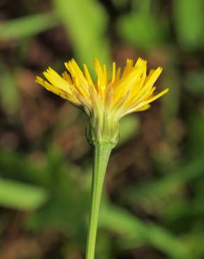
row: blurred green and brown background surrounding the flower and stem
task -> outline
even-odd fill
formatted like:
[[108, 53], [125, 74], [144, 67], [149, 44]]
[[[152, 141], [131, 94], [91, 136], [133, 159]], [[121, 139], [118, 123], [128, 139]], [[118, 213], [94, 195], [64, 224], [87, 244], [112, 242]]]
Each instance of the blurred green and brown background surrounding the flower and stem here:
[[170, 92], [122, 120], [97, 259], [204, 258], [203, 0], [0, 1], [0, 257], [85, 258], [87, 117], [37, 85], [74, 57], [163, 66]]

